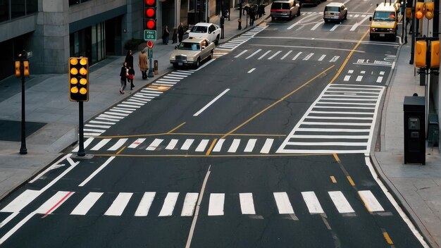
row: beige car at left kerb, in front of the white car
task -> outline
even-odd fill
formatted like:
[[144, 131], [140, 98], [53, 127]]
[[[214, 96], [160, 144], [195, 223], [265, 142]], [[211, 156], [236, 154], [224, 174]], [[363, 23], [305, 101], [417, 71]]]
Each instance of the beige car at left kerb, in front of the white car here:
[[178, 66], [194, 66], [198, 68], [201, 61], [206, 58], [213, 58], [213, 51], [216, 48], [213, 42], [208, 39], [184, 39], [175, 46], [175, 51], [170, 54], [170, 63], [174, 68]]

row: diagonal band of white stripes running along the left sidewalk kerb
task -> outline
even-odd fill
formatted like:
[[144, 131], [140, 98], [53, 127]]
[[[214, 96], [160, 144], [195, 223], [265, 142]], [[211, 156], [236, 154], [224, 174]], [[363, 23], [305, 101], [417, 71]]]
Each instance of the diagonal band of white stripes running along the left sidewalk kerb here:
[[[192, 73], [194, 73], [194, 70], [176, 70], [160, 77], [144, 89], [141, 89], [128, 99], [120, 102], [120, 104], [117, 104], [113, 108], [108, 109], [104, 113], [99, 114], [99, 116], [89, 120], [84, 125], [84, 136], [96, 137], [102, 135], [108, 128], [111, 128], [118, 123], [118, 121], [123, 120], [129, 116], [130, 113], [133, 113], [145, 104], [148, 104], [149, 101], [156, 97], [160, 97], [163, 92], [166, 92], [185, 77], [192, 75]], [[104, 145], [108, 140], [103, 140], [102, 142], [104, 142]], [[77, 150], [74, 151], [76, 152]]]

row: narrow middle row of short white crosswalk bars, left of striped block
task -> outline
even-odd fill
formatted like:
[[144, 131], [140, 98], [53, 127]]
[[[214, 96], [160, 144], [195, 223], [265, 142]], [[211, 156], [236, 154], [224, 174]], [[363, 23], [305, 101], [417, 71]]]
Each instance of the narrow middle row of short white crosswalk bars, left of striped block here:
[[[168, 136], [168, 135], [167, 135]], [[84, 142], [85, 151], [89, 152], [107, 152], [118, 151], [123, 147], [128, 149], [137, 149], [148, 152], [175, 151], [188, 154], [192, 151], [195, 154], [204, 154], [207, 151], [217, 154], [270, 154], [274, 152], [276, 142], [280, 144], [280, 137], [276, 138], [226, 138], [226, 139], [209, 139], [204, 137], [194, 138], [97, 138], [89, 137]], [[78, 150], [78, 146], [73, 152]]]

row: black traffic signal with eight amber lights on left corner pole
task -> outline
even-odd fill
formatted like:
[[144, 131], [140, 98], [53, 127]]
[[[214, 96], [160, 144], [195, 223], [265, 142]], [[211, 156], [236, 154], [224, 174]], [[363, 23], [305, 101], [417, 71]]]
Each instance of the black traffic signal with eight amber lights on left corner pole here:
[[69, 58], [69, 99], [89, 101], [89, 61], [87, 58]]

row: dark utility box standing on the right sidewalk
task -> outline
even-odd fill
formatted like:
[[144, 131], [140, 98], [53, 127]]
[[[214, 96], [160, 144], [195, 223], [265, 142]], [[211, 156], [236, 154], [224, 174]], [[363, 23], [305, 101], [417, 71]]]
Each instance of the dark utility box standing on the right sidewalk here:
[[404, 97], [404, 163], [426, 164], [426, 100]]

